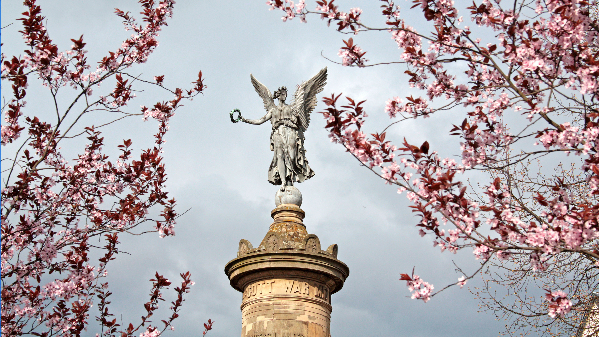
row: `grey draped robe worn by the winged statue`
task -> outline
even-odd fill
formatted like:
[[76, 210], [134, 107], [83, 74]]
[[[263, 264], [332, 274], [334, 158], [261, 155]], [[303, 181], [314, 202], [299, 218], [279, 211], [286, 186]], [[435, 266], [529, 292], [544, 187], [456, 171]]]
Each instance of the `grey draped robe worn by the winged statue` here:
[[277, 166], [276, 148], [281, 148], [285, 156], [286, 181], [303, 182], [314, 176], [314, 171], [305, 159], [304, 133], [298, 128], [298, 119], [291, 106], [275, 106], [271, 108], [270, 151], [274, 151], [273, 162], [268, 169], [268, 181], [273, 185], [281, 185], [279, 167]]

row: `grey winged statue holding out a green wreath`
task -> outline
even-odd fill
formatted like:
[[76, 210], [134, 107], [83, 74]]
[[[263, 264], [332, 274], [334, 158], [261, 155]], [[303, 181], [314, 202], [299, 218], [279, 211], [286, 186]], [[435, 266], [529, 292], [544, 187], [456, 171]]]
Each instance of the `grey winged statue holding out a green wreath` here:
[[[268, 169], [268, 181], [273, 185], [281, 185], [281, 191], [285, 191], [285, 186], [293, 186], [294, 182], [303, 182], [314, 176], [314, 171], [305, 159], [304, 132], [310, 124], [310, 113], [316, 106], [316, 94], [326, 85], [326, 67], [310, 80], [297, 86], [291, 105], [285, 104], [285, 86], [272, 95], [252, 74], [250, 78], [256, 92], [264, 101], [267, 114], [261, 119], [245, 119], [241, 115], [239, 118], [240, 121], [256, 125], [270, 119], [273, 126], [270, 151], [274, 151], [274, 156]], [[274, 104], [275, 98], [279, 99], [279, 105]]]

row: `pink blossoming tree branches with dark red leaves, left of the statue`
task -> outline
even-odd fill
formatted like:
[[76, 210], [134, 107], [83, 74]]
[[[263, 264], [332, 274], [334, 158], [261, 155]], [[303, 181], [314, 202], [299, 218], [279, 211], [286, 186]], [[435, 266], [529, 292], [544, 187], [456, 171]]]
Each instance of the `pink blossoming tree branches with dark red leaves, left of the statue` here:
[[[164, 189], [164, 137], [181, 100], [191, 99], [205, 89], [201, 72], [189, 90], [165, 88], [164, 76], [150, 81], [129, 73], [134, 65], [145, 63], [158, 47], [158, 34], [173, 15], [174, 1], [139, 3], [142, 23], [131, 13], [116, 10], [132, 34], [98, 65], [88, 62], [83, 36], [71, 40], [71, 49], [59, 51], [35, 0], [25, 1], [25, 13], [19, 19], [25, 53], [12, 58], [1, 55], [1, 78], [10, 83], [12, 95], [2, 106], [5, 119], [1, 142], [3, 146], [17, 144], [11, 145], [17, 150], [10, 156], [2, 151], [3, 336], [80, 336], [90, 324], [90, 310], [95, 305], [99, 335], [126, 337], [140, 333], [141, 337], [155, 337], [173, 327], [183, 296], [193, 285], [190, 273], [181, 273], [181, 283], [174, 288], [177, 298], [171, 302], [171, 316], [162, 323], [150, 323], [150, 317], [159, 301], [164, 300], [162, 292], [171, 281], [158, 273], [150, 280], [150, 299], [143, 304], [145, 314], [139, 322], [121, 327], [109, 311], [111, 293], [103, 278], [108, 263], [120, 252], [119, 235], [147, 231], [174, 235], [179, 213], [174, 210], [176, 201]], [[35, 83], [42, 83], [50, 91], [53, 101], [46, 106], [54, 110], [54, 120], [44, 121], [35, 112], [26, 112], [26, 89], [32, 76]], [[115, 83], [114, 88], [104, 95], [93, 95], [92, 91], [102, 90], [102, 82], [110, 81]], [[159, 86], [171, 99], [141, 107], [141, 112], [130, 112], [126, 106], [135, 98], [134, 82]], [[72, 97], [65, 109], [59, 108], [59, 92], [62, 97]], [[102, 125], [81, 125], [83, 116], [92, 113], [113, 118]], [[118, 158], [109, 160], [102, 151], [104, 137], [100, 130], [131, 117], [151, 118], [158, 123], [155, 145], [141, 151], [136, 159], [132, 141], [123, 140]], [[60, 149], [72, 149], [69, 142], [81, 137], [88, 142], [69, 162]], [[156, 218], [150, 218], [156, 207], [161, 211], [154, 212]], [[94, 246], [92, 239], [104, 243]], [[92, 260], [92, 255], [98, 255], [99, 260]], [[209, 321], [207, 330], [211, 324]]]

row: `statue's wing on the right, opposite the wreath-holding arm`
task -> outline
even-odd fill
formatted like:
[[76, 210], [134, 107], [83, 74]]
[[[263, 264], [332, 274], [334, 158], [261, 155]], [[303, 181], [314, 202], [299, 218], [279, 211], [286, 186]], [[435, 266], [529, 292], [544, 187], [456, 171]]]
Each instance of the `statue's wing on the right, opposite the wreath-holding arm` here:
[[298, 114], [298, 127], [302, 132], [310, 125], [310, 113], [316, 106], [316, 94], [326, 85], [326, 67], [316, 76], [298, 85], [294, 95], [294, 107]]

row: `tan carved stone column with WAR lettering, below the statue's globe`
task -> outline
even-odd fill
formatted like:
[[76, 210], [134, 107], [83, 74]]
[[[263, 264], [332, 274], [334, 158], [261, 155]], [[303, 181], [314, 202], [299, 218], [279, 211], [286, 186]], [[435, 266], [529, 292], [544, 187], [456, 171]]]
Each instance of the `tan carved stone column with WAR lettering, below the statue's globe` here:
[[330, 337], [331, 294], [349, 268], [337, 260], [337, 245], [320, 249], [297, 205], [280, 204], [271, 215], [258, 248], [241, 240], [237, 258], [225, 266], [231, 286], [243, 293], [241, 337]]

